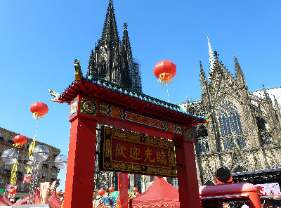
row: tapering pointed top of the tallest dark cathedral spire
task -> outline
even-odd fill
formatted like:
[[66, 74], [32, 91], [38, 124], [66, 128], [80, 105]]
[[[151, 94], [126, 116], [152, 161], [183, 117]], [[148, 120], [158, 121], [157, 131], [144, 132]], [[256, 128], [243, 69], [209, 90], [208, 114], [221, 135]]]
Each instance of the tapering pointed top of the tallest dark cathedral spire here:
[[112, 4], [112, 0], [109, 1], [107, 7], [107, 13], [105, 16], [105, 23], [103, 25], [103, 34], [101, 36], [101, 42], [103, 44], [117, 44], [119, 41], [115, 12]]

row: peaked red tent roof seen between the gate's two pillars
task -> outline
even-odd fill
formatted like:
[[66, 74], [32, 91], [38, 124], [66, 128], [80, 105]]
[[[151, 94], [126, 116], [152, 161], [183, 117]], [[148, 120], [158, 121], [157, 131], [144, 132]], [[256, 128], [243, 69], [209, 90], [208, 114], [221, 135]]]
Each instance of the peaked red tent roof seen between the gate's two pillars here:
[[130, 200], [130, 208], [180, 207], [178, 188], [162, 177], [156, 177], [152, 185], [141, 195]]

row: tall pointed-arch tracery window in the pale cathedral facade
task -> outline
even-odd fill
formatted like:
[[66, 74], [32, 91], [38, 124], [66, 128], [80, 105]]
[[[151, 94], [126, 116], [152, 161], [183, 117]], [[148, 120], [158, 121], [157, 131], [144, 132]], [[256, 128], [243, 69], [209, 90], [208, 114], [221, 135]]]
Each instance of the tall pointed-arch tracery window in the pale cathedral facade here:
[[223, 100], [218, 108], [218, 122], [223, 138], [224, 150], [231, 150], [234, 140], [240, 148], [246, 147], [240, 115], [237, 107], [230, 100]]

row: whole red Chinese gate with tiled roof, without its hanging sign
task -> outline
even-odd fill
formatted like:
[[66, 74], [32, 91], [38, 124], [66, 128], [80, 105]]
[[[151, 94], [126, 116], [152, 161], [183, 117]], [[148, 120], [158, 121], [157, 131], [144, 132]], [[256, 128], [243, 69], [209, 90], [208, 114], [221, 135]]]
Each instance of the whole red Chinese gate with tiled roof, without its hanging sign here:
[[96, 77], [74, 81], [57, 101], [70, 104], [65, 207], [92, 206], [97, 123], [174, 141], [181, 208], [200, 206], [192, 126], [205, 117]]

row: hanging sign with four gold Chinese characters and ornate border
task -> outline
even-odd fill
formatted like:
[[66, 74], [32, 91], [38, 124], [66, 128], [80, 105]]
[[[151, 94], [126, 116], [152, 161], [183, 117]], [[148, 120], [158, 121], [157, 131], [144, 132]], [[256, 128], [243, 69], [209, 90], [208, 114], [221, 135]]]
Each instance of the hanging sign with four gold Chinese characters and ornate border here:
[[176, 177], [174, 142], [101, 127], [100, 170]]

